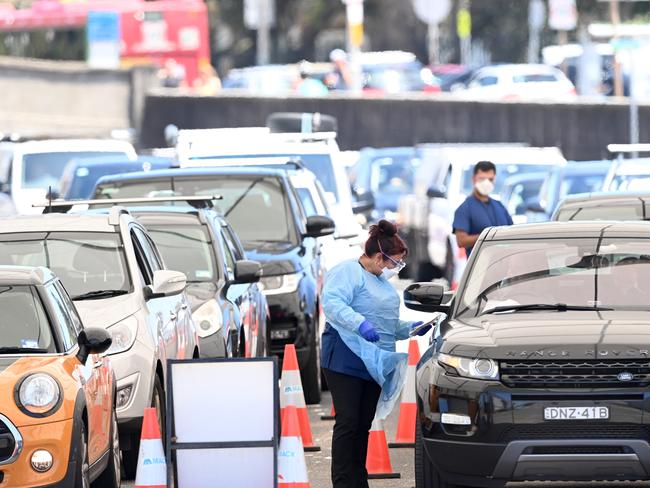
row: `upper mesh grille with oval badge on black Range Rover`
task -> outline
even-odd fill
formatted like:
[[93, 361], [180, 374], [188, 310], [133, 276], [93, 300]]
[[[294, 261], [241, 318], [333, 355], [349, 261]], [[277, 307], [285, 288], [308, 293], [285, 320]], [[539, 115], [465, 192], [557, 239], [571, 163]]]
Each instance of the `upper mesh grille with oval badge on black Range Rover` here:
[[[650, 360], [502, 361], [501, 381], [513, 388], [607, 388], [650, 385]], [[632, 375], [629, 381], [621, 373]]]

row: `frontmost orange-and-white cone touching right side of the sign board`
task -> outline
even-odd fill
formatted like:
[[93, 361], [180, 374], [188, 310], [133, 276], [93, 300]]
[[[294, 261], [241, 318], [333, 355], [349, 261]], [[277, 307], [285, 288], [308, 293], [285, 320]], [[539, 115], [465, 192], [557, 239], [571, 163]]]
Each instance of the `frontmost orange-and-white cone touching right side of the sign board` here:
[[285, 407], [282, 414], [282, 435], [278, 450], [278, 488], [309, 488], [298, 410], [293, 405]]

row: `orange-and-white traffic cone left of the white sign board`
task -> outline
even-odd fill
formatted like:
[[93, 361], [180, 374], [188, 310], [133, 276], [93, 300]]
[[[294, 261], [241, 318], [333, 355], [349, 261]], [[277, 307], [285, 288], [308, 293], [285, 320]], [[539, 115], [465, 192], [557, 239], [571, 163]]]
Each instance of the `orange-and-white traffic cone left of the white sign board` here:
[[158, 414], [155, 408], [145, 408], [135, 488], [166, 487], [167, 462], [158, 426]]

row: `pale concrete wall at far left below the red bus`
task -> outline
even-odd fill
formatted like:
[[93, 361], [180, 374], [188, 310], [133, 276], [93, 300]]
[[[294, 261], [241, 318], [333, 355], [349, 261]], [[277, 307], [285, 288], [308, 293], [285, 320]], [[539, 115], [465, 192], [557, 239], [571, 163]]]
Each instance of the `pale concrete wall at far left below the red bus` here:
[[0, 132], [99, 136], [136, 127], [154, 84], [152, 68], [93, 70], [0, 57]]

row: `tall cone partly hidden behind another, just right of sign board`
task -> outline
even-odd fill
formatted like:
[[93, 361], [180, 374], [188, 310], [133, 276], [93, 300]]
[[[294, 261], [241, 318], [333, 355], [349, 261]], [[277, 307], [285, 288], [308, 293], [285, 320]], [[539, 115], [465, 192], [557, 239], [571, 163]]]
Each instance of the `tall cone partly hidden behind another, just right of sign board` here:
[[320, 447], [314, 445], [314, 439], [309, 425], [309, 413], [305, 404], [305, 395], [302, 391], [302, 381], [298, 370], [298, 357], [293, 344], [284, 347], [284, 362], [282, 364], [282, 378], [280, 389], [280, 408], [282, 412], [290, 405], [298, 411], [298, 422], [302, 435], [302, 445], [306, 452], [320, 451]]

